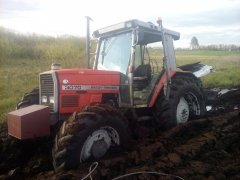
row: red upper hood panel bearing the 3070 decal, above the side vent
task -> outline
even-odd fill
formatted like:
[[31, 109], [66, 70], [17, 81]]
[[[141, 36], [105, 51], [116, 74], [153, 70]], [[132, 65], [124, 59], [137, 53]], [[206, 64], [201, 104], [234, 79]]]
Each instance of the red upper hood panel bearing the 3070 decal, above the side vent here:
[[120, 73], [93, 69], [61, 69], [55, 71], [58, 77], [59, 90], [62, 93], [72, 91], [118, 92]]

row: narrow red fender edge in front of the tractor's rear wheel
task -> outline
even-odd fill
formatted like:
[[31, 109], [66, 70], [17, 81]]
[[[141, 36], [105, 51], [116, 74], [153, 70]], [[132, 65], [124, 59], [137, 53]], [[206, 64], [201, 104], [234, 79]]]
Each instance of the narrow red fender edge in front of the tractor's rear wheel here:
[[[172, 78], [176, 74], [176, 71], [170, 71], [170, 77]], [[162, 75], [161, 80], [159, 81], [156, 90], [153, 93], [153, 96], [151, 98], [151, 101], [149, 103], [149, 107], [153, 107], [158, 95], [160, 94], [161, 90], [163, 89], [164, 83], [167, 80], [167, 74], [166, 72]]]

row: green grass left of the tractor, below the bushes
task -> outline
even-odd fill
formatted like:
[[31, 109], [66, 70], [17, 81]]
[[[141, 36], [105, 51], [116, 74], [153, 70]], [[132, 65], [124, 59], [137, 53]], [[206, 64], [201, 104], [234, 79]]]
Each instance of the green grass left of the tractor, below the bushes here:
[[[65, 68], [85, 66], [83, 57], [55, 62]], [[52, 63], [43, 59], [0, 59], [0, 122], [26, 92], [38, 86], [39, 73], [50, 70]]]

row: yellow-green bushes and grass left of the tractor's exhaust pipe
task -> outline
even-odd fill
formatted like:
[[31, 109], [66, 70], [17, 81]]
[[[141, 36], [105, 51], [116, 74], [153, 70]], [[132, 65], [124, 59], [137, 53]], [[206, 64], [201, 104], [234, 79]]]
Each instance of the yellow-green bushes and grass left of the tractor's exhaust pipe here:
[[38, 86], [38, 74], [50, 70], [52, 63], [84, 67], [84, 60], [84, 38], [23, 35], [0, 27], [0, 122]]

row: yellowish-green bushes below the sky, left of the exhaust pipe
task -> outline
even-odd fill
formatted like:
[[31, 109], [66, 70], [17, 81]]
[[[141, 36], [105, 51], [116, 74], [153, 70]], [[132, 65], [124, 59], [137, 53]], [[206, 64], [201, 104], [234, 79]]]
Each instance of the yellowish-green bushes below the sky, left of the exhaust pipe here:
[[24, 35], [0, 27], [0, 59], [79, 59], [85, 56], [85, 38]]

